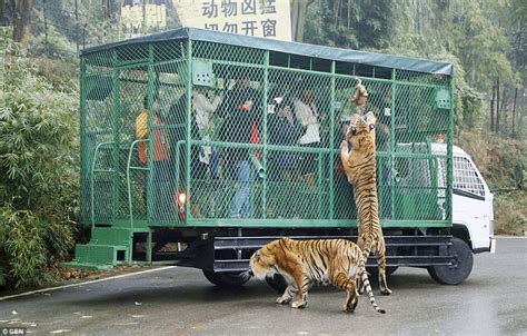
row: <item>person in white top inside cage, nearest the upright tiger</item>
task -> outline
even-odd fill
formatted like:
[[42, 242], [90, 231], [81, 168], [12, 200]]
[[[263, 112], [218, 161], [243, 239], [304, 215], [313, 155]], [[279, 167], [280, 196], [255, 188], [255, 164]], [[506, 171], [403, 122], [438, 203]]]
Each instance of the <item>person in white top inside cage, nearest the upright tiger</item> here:
[[[298, 139], [302, 147], [320, 147], [320, 125], [317, 107], [310, 89], [304, 89], [299, 97], [294, 100], [295, 117], [304, 127], [305, 132]], [[301, 171], [307, 180], [315, 179], [317, 168], [316, 152], [304, 152], [301, 160]]]

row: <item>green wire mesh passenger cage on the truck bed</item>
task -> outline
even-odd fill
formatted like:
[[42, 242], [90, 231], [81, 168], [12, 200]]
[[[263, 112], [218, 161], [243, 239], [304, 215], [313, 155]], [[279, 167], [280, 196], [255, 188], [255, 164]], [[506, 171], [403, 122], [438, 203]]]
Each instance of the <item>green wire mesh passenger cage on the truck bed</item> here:
[[434, 150], [451, 131], [447, 76], [183, 39], [81, 65], [84, 223], [355, 219], [339, 146], [357, 77], [377, 116], [381, 219], [447, 219], [448, 156]]

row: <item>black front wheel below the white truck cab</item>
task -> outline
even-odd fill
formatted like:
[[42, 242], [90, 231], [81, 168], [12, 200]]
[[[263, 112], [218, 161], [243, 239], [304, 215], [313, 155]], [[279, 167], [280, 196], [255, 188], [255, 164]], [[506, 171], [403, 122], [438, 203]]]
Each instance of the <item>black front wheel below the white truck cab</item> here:
[[448, 255], [456, 257], [453, 266], [429, 266], [428, 274], [434, 280], [443, 285], [459, 285], [473, 270], [474, 256], [468, 245], [459, 238], [453, 239], [453, 245], [448, 248]]

